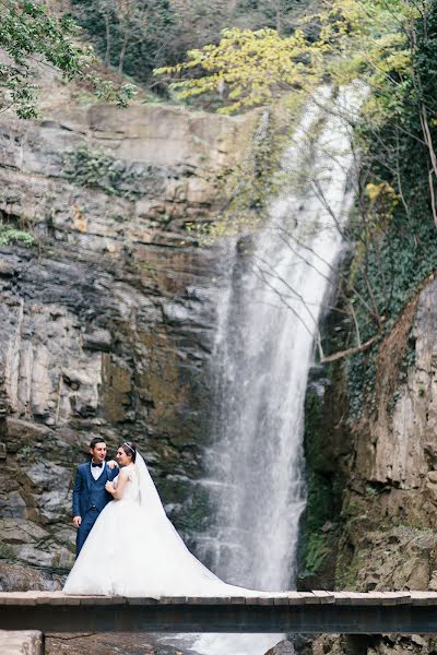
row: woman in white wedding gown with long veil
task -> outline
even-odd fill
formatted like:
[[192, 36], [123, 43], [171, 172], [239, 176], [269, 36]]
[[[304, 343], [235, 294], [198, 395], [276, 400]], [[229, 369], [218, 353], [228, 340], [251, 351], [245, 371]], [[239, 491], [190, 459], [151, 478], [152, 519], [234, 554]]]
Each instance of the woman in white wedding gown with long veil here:
[[[226, 584], [187, 549], [167, 519], [143, 457], [133, 443], [117, 451], [120, 473], [72, 568], [66, 594], [120, 596], [261, 595]], [[129, 562], [127, 575], [123, 562]]]

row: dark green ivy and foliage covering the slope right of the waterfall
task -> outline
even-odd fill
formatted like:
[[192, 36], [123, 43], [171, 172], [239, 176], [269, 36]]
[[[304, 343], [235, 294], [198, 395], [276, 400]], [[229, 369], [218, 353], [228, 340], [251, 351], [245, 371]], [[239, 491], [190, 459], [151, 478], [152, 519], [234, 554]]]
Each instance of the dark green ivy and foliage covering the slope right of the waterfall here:
[[[425, 143], [422, 104], [426, 104], [430, 142], [437, 139], [437, 2], [423, 3], [426, 13], [414, 22], [412, 74], [397, 90], [397, 106], [390, 115], [365, 116], [358, 131], [363, 151], [363, 177], [393, 189], [397, 199], [391, 219], [382, 228], [366, 226], [365, 257], [361, 266], [365, 275], [356, 277], [356, 291], [374, 305], [383, 317], [380, 327], [363, 306], [355, 303], [363, 331], [363, 341], [376, 330], [381, 336], [394, 325], [405, 303], [420, 290], [421, 285], [436, 267], [437, 230], [430, 219], [430, 186], [435, 189], [432, 148]], [[386, 93], [388, 93], [386, 91]], [[381, 214], [377, 207], [377, 215]], [[359, 227], [358, 227], [359, 226]], [[363, 231], [359, 216], [351, 226], [351, 240], [358, 240]], [[356, 266], [355, 257], [353, 266]], [[356, 294], [355, 294], [356, 295]], [[377, 350], [358, 354], [346, 362], [350, 381], [351, 417], [359, 417], [376, 407], [375, 379]], [[409, 341], [405, 357], [399, 370], [399, 384], [406, 380], [414, 365], [414, 343]], [[397, 397], [391, 401], [393, 407]]]

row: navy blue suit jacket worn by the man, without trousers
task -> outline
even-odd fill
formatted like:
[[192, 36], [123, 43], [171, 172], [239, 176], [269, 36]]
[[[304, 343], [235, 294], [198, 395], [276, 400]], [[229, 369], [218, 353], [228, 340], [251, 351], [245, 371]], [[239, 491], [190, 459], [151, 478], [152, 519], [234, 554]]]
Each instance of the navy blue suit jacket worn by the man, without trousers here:
[[98, 480], [94, 480], [91, 474], [91, 464], [80, 464], [74, 479], [73, 488], [73, 516], [84, 516], [92, 507], [99, 512], [113, 500], [113, 497], [105, 489], [105, 484], [114, 480], [119, 473], [118, 467], [113, 469], [105, 463]]

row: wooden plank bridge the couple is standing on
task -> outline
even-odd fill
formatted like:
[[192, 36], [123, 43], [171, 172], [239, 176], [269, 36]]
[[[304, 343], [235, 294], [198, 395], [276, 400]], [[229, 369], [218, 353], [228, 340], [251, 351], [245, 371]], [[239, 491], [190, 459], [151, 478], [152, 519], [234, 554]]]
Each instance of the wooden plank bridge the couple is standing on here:
[[287, 592], [256, 598], [0, 593], [0, 630], [437, 633], [437, 593]]

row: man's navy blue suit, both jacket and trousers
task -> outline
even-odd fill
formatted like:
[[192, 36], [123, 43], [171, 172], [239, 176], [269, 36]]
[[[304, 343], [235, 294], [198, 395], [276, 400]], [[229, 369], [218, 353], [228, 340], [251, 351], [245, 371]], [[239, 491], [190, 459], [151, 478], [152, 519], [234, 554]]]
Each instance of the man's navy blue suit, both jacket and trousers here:
[[73, 488], [73, 516], [81, 516], [82, 523], [75, 538], [76, 555], [80, 553], [98, 514], [113, 500], [105, 485], [108, 480], [114, 480], [118, 473], [117, 467], [110, 469], [105, 462], [101, 476], [95, 480], [91, 473], [91, 462], [78, 466]]

